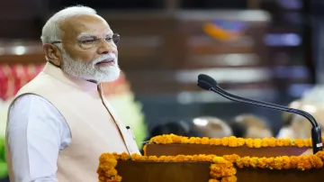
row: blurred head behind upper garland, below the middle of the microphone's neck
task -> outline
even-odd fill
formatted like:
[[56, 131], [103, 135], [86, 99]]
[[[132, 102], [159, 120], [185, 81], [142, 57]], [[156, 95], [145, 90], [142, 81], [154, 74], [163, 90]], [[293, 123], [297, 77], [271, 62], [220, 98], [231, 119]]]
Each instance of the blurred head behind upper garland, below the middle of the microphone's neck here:
[[229, 123], [234, 136], [251, 139], [271, 138], [273, 133], [266, 121], [253, 114], [240, 114]]

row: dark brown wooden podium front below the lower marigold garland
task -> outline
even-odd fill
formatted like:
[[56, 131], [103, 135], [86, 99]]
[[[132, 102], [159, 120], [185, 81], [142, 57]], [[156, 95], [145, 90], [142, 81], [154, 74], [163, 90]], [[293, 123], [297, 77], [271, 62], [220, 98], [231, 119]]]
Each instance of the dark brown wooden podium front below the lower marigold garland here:
[[[210, 166], [208, 162], [119, 161], [116, 169], [122, 182], [207, 182]], [[236, 177], [239, 182], [313, 182], [324, 177], [324, 168], [303, 171], [238, 168]]]

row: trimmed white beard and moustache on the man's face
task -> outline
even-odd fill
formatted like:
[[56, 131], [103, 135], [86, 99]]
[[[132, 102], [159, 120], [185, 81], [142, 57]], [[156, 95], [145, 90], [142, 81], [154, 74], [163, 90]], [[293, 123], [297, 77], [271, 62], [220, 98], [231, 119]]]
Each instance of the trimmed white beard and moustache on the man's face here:
[[[108, 67], [100, 67], [95, 65], [96, 63], [105, 59], [113, 59], [113, 65]], [[85, 63], [82, 60], [72, 59], [67, 52], [63, 50], [61, 68], [70, 76], [79, 77], [85, 80], [92, 80], [97, 83], [112, 82], [121, 74], [117, 57], [113, 53], [105, 54], [98, 59]]]

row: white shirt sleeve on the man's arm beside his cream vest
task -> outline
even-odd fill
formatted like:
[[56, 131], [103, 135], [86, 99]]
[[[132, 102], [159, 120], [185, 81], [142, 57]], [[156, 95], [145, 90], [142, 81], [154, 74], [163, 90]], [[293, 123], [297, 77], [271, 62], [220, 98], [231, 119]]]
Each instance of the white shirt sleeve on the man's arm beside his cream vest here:
[[10, 111], [7, 136], [15, 181], [57, 181], [58, 151], [71, 142], [63, 116], [35, 95], [18, 98]]

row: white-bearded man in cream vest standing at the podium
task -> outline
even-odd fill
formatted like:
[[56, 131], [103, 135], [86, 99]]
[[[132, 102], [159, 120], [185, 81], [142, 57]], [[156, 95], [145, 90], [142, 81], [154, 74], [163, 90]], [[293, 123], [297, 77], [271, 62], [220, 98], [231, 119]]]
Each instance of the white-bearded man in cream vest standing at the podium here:
[[120, 75], [119, 40], [89, 7], [68, 7], [49, 18], [41, 35], [47, 64], [8, 113], [12, 182], [97, 181], [103, 152], [139, 153], [100, 84]]

